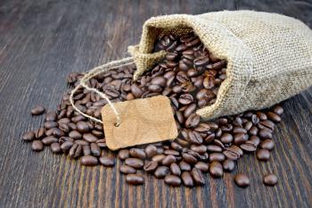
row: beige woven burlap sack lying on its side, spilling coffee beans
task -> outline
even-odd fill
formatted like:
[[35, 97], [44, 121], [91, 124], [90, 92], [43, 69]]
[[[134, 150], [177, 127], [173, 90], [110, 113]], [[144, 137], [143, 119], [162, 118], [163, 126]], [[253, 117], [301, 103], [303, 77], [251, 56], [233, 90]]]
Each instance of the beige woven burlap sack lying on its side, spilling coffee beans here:
[[203, 119], [258, 110], [312, 85], [312, 32], [301, 21], [267, 12], [175, 14], [145, 21], [138, 46], [129, 46], [135, 79], [165, 52], [152, 53], [166, 30], [193, 29], [213, 54], [227, 60], [226, 80], [215, 104], [197, 111]]

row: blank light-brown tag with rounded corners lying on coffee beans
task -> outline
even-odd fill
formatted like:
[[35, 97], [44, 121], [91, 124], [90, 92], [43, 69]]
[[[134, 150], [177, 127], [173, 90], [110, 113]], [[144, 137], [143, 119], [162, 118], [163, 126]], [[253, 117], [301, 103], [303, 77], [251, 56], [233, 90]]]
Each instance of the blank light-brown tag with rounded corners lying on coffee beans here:
[[111, 150], [160, 142], [177, 137], [177, 125], [167, 96], [153, 96], [114, 103], [120, 114], [120, 125], [111, 106], [102, 108], [106, 145]]

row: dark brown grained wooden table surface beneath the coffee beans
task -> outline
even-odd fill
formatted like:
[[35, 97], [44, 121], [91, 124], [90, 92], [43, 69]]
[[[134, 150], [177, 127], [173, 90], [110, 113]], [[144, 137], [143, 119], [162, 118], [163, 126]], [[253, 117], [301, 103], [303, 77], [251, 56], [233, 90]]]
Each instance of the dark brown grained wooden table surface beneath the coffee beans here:
[[[149, 17], [236, 9], [284, 13], [312, 26], [311, 1], [1, 1], [0, 207], [312, 207], [312, 88], [283, 102], [270, 162], [254, 155], [238, 162], [234, 172], [250, 175], [245, 189], [228, 173], [193, 189], [151, 176], [131, 187], [116, 167], [82, 167], [21, 141], [44, 121], [30, 116], [35, 104], [55, 109], [70, 71], [127, 56]], [[271, 171], [279, 184], [265, 187], [261, 178]]]

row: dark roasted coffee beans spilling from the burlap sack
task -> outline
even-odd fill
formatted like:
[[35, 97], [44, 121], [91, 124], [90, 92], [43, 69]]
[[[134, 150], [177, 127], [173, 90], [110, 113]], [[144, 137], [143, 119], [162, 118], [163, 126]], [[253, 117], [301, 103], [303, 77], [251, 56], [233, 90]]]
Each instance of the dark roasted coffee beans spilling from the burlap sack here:
[[[146, 172], [164, 179], [170, 186], [201, 186], [206, 182], [207, 172], [221, 178], [225, 171], [234, 171], [236, 161], [243, 154], [256, 153], [260, 161], [268, 161], [275, 147], [272, 133], [275, 123], [281, 121], [283, 108], [275, 106], [265, 111], [201, 121], [195, 112], [216, 101], [218, 88], [226, 79], [226, 61], [210, 54], [193, 33], [160, 37], [154, 51], [160, 50], [168, 52], [166, 57], [136, 81], [132, 79], [135, 65], [128, 65], [105, 71], [87, 84], [103, 91], [112, 102], [168, 96], [179, 131], [174, 141], [121, 149], [112, 154], [115, 157], [106, 156], [110, 150], [105, 143], [103, 125], [75, 112], [70, 104], [70, 92], [62, 96], [56, 111], [45, 112], [40, 105], [31, 110], [33, 115], [45, 112], [45, 123], [40, 129], [26, 132], [23, 139], [32, 142], [34, 151], [50, 146], [53, 154], [80, 158], [80, 163], [86, 166], [112, 167], [119, 158], [122, 161], [119, 171], [132, 185], [144, 184]], [[67, 80], [70, 88], [78, 86], [83, 75], [70, 73]], [[85, 88], [79, 88], [73, 99], [80, 111], [102, 119], [105, 99]], [[239, 187], [250, 184], [243, 173], [237, 174], [234, 181]], [[269, 173], [263, 182], [274, 186], [277, 178]]]

